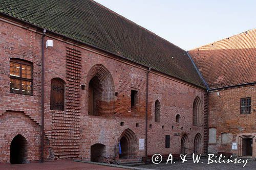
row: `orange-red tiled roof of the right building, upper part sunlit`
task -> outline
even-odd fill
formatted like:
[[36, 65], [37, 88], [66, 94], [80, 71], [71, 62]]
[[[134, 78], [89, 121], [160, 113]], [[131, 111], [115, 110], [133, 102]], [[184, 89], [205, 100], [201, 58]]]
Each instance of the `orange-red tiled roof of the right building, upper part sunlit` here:
[[210, 89], [256, 82], [256, 29], [189, 51]]

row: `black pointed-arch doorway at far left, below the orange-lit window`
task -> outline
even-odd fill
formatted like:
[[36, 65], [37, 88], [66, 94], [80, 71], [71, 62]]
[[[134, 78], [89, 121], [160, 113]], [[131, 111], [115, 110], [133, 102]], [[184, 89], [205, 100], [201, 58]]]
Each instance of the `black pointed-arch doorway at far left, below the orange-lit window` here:
[[16, 135], [11, 142], [11, 164], [27, 163], [27, 140], [22, 135]]

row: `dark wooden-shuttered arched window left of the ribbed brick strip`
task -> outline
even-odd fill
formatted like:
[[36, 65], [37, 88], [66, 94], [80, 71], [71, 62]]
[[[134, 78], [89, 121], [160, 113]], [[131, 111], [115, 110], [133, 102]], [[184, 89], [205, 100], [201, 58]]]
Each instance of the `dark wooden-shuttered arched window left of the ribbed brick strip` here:
[[65, 82], [60, 78], [51, 80], [51, 110], [64, 110]]

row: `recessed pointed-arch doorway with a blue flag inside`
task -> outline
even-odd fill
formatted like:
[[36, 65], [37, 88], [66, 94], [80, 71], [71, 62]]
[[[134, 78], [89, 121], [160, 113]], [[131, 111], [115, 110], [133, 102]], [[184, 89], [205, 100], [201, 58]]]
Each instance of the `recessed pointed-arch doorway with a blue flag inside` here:
[[137, 138], [131, 129], [123, 131], [119, 143], [119, 159], [134, 159], [137, 157]]

